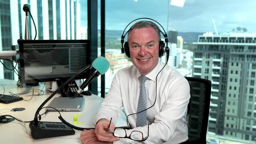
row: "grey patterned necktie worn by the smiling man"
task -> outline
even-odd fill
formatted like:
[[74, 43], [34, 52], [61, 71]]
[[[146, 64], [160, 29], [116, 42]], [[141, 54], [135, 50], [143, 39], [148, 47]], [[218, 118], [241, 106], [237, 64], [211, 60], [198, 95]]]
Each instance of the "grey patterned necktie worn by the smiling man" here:
[[[142, 127], [147, 125], [147, 93], [145, 89], [145, 81], [148, 79], [146, 76], [140, 76], [141, 79], [141, 91], [139, 93], [139, 102], [137, 107], [137, 120], [136, 127]], [[141, 113], [138, 113], [143, 111]]]

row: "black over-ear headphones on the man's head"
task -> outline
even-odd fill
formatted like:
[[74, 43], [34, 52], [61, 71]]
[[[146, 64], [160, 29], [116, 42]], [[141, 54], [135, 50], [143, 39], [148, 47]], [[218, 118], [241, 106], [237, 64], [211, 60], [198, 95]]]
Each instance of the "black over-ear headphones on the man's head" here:
[[[152, 21], [158, 23], [158, 24], [161, 26], [161, 24], [160, 24], [159, 22], [157, 22], [156, 20], [154, 20], [154, 19], [152, 19], [152, 18], [137, 18], [137, 19], [135, 19], [135, 20], [139, 20], [139, 19], [149, 19], [149, 20], [152, 20]], [[134, 22], [135, 20], [133, 20], [132, 22]], [[127, 28], [132, 22], [130, 22], [130, 23], [125, 27], [124, 31], [126, 30], [126, 28]], [[150, 21], [147, 21], [147, 22], [150, 22]], [[150, 23], [154, 26], [154, 28], [157, 28], [157, 29], [163, 34], [163, 36], [165, 37], [166, 46], [165, 46], [165, 43], [164, 43], [163, 41], [160, 41], [160, 43], [159, 43], [159, 57], [162, 57], [162, 56], [165, 54], [165, 52], [166, 52], [166, 53], [167, 53], [167, 61], [168, 61], [168, 58], [169, 58], [169, 51], [170, 51], [170, 50], [169, 50], [169, 47], [168, 47], [168, 37], [167, 37], [167, 34], [166, 34], [166, 32], [165, 32], [163, 26], [161, 26], [161, 28], [163, 29], [164, 33], [163, 33], [163, 31], [161, 31], [161, 30], [158, 28], [158, 26], [157, 26], [156, 24], [154, 24], [153, 22], [150, 22]], [[130, 29], [129, 29], [129, 30], [130, 30]], [[128, 31], [129, 31], [129, 30], [128, 30]], [[125, 34], [124, 34], [124, 31], [123, 31], [122, 36], [121, 36], [121, 44], [122, 44], [121, 52], [122, 52], [122, 53], [125, 53], [126, 56], [130, 58], [130, 51], [129, 51], [128, 42], [124, 42], [124, 37], [125, 37], [125, 35], [128, 33], [128, 31], [127, 31]], [[124, 46], [123, 46], [123, 44], [124, 44]]]

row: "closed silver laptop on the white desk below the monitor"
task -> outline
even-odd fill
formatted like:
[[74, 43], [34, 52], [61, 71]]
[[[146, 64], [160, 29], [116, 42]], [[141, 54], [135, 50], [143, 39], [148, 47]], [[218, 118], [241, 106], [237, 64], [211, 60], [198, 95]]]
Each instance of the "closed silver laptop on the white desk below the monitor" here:
[[57, 97], [46, 107], [46, 111], [82, 111], [84, 102], [85, 98]]

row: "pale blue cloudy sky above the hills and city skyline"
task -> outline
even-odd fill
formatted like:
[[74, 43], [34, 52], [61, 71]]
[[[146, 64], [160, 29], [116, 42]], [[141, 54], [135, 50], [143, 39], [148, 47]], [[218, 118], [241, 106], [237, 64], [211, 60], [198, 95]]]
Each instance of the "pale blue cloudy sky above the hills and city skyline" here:
[[[82, 8], [87, 7], [87, 2], [80, 2], [81, 24], [87, 26], [87, 8]], [[241, 27], [247, 28], [249, 33], [256, 33], [256, 0], [185, 0], [183, 7], [172, 6], [170, 2], [106, 0], [106, 30], [124, 30], [132, 20], [149, 17], [158, 21], [165, 31], [215, 32], [211, 20], [214, 18], [218, 32]]]

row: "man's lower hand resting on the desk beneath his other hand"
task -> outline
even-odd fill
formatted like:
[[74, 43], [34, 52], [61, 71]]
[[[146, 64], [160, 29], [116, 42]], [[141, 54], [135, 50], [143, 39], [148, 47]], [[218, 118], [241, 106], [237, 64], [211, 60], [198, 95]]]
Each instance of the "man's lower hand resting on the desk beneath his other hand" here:
[[95, 135], [94, 129], [83, 130], [80, 135], [80, 140], [83, 144], [113, 144], [113, 142], [104, 142], [98, 140]]

